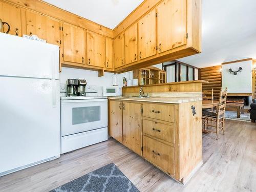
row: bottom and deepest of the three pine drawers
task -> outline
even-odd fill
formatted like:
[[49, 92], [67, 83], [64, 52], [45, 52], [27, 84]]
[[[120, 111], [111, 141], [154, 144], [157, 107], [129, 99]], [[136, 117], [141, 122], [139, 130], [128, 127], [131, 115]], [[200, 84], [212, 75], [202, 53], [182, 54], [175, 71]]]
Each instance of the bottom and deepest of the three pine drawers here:
[[174, 176], [174, 147], [143, 136], [143, 157]]

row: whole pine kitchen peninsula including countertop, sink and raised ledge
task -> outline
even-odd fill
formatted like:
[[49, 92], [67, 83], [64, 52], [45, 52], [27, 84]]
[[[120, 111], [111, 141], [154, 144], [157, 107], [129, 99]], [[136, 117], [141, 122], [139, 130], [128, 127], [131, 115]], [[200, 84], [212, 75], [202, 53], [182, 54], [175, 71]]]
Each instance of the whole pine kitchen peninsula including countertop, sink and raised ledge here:
[[[187, 182], [202, 165], [203, 82], [123, 88], [121, 97], [109, 97], [109, 134], [167, 175]], [[142, 90], [149, 97], [139, 96]]]

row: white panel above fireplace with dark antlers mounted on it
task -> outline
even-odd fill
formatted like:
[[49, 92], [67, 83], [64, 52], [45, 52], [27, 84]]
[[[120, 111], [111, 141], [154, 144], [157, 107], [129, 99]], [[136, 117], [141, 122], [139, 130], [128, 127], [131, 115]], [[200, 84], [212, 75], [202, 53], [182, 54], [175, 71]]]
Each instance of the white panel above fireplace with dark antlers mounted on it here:
[[[238, 71], [239, 67], [243, 69], [237, 75], [228, 71], [230, 68], [232, 71]], [[228, 93], [251, 93], [251, 71], [251, 60], [222, 65], [222, 90], [227, 87]]]

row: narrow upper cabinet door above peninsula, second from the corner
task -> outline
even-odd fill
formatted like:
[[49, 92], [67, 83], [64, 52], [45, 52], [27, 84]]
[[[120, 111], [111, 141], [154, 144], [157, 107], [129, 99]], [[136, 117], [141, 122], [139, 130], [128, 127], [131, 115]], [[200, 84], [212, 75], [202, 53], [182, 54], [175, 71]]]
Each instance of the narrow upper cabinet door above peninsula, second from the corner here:
[[138, 60], [138, 27], [137, 23], [124, 32], [125, 36], [125, 65]]

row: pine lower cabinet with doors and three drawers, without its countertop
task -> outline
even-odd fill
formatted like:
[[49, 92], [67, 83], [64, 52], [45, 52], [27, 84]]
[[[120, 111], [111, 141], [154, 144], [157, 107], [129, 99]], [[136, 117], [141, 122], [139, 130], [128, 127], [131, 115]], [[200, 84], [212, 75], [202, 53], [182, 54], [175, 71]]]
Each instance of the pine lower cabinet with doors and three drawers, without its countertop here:
[[172, 104], [111, 98], [109, 109], [110, 135], [119, 142], [122, 137], [126, 147], [170, 177], [185, 184], [202, 165], [202, 101]]

